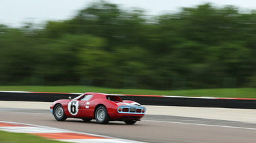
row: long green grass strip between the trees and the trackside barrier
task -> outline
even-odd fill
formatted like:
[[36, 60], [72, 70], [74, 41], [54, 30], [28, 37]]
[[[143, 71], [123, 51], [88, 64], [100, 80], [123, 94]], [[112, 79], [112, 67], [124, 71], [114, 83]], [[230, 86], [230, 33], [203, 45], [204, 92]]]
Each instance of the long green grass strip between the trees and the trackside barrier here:
[[111, 89], [104, 87], [89, 86], [0, 86], [0, 91], [38, 91], [57, 93], [111, 93], [111, 94], [132, 94], [132, 95], [174, 95], [191, 97], [238, 97], [255, 98], [255, 88], [240, 89], [193, 89], [182, 91], [157, 91], [145, 89]]

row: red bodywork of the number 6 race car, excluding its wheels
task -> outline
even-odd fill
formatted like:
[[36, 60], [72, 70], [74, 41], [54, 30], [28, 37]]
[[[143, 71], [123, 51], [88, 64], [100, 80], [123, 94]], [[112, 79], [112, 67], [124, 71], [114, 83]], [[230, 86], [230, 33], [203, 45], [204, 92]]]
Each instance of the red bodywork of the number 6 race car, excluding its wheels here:
[[[88, 101], [83, 98], [91, 97]], [[84, 93], [74, 99], [61, 99], [51, 104], [51, 113], [55, 105], [61, 104], [67, 117], [95, 119], [95, 111], [100, 105], [107, 108], [111, 120], [140, 120], [145, 115], [146, 108], [135, 101], [122, 99], [118, 95], [105, 93]], [[118, 111], [119, 108], [128, 111]], [[134, 108], [134, 109], [132, 109]]]

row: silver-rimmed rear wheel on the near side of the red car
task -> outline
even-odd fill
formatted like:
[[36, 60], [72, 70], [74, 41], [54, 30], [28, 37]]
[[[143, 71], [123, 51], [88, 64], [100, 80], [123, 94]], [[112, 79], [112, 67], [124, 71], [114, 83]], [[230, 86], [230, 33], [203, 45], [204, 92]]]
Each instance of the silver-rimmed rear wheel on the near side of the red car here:
[[98, 124], [107, 124], [109, 122], [109, 113], [105, 106], [101, 105], [95, 111], [95, 119]]

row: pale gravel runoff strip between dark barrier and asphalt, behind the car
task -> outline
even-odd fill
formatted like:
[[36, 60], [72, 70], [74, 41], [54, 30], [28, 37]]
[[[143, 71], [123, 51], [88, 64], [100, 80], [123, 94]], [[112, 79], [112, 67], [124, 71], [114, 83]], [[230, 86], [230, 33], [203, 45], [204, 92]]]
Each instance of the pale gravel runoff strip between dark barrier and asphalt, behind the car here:
[[[0, 107], [20, 109], [49, 109], [49, 102], [0, 101]], [[256, 124], [256, 109], [215, 107], [177, 107], [145, 105], [148, 115], [174, 115], [212, 120], [228, 120]]]

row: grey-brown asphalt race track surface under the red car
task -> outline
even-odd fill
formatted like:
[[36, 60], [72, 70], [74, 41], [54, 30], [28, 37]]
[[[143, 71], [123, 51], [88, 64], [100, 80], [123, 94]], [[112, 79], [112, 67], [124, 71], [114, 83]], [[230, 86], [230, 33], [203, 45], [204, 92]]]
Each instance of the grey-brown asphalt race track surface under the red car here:
[[172, 115], [145, 115], [134, 125], [109, 122], [100, 125], [68, 118], [57, 122], [47, 109], [17, 109], [0, 106], [0, 120], [36, 124], [55, 128], [99, 134], [141, 142], [255, 142], [256, 124], [209, 120]]

